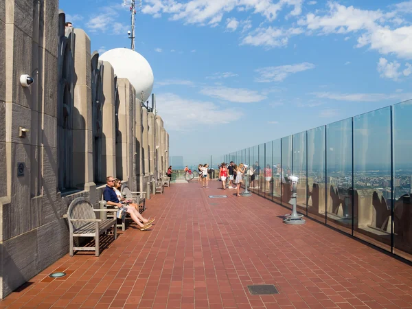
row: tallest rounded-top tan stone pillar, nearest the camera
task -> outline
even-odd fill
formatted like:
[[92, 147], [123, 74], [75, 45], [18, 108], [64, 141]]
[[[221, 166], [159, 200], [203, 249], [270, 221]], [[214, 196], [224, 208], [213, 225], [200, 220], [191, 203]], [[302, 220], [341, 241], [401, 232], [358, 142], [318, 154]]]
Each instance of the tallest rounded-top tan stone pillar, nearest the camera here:
[[[90, 38], [82, 29], [75, 29], [74, 35], [73, 183], [84, 190], [95, 190]], [[95, 194], [91, 192], [90, 197], [94, 203]]]

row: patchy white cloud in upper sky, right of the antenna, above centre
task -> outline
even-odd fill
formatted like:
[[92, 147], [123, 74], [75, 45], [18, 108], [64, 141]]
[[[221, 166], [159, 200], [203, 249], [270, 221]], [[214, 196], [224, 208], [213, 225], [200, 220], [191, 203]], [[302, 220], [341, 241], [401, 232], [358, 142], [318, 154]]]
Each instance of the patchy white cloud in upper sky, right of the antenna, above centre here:
[[264, 46], [267, 48], [284, 47], [288, 45], [290, 36], [303, 33], [301, 28], [284, 30], [275, 27], [259, 27], [242, 39], [241, 45]]

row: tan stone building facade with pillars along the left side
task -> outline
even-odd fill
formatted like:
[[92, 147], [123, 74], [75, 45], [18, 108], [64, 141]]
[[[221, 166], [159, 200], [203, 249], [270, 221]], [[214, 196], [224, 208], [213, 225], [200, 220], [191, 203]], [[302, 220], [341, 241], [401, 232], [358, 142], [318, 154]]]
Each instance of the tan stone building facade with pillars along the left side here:
[[168, 156], [155, 163], [153, 151], [168, 150], [168, 134], [158, 119], [153, 135], [156, 116], [83, 30], [65, 28], [57, 0], [0, 1], [0, 45], [3, 298], [68, 253], [63, 215], [74, 198], [97, 207], [108, 175], [150, 190], [154, 166], [167, 169]]

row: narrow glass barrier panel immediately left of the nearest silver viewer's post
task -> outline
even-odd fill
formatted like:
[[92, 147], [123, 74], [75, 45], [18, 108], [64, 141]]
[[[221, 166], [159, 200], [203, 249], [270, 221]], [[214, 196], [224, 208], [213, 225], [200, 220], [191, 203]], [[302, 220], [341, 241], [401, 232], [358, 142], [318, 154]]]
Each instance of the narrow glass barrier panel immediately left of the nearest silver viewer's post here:
[[292, 162], [292, 135], [282, 138], [282, 160], [280, 174], [282, 179], [282, 205], [292, 208], [289, 204], [290, 200], [290, 181], [289, 176], [292, 175], [293, 162]]

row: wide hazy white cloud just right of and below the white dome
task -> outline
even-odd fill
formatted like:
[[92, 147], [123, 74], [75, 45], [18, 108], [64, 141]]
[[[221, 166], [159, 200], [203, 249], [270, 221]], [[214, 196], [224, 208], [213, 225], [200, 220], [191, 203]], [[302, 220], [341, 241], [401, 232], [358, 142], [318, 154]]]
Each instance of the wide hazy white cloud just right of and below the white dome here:
[[[213, 102], [181, 98], [174, 93], [157, 95], [157, 110], [168, 130], [192, 130], [194, 126], [219, 125], [235, 122], [242, 112], [233, 108], [221, 108]], [[230, 115], [230, 117], [222, 117]]]

